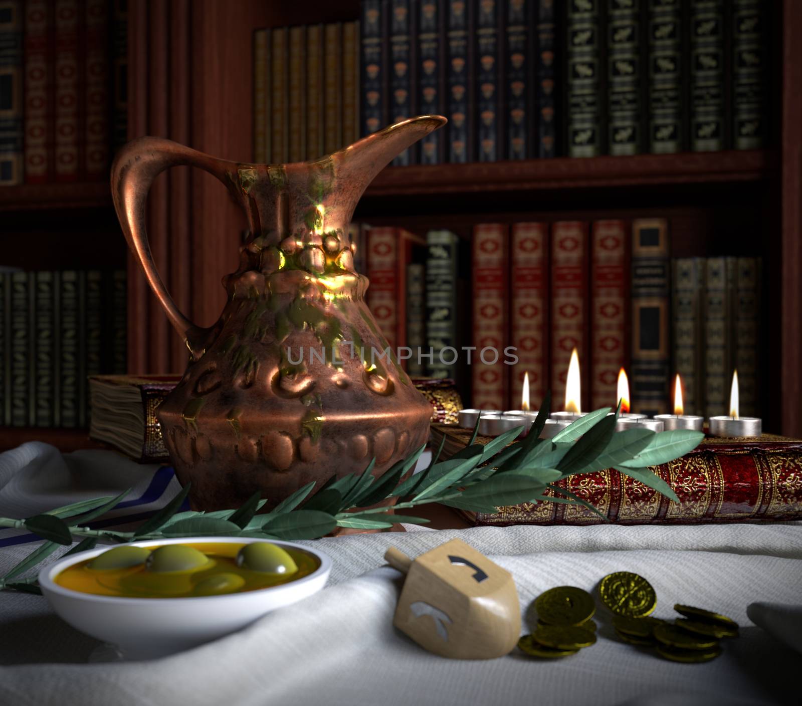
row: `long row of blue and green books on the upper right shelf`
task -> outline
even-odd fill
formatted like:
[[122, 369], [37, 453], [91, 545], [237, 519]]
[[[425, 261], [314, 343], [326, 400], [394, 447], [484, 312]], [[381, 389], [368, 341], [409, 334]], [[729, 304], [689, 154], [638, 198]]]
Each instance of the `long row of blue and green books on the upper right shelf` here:
[[363, 0], [361, 132], [448, 117], [421, 164], [760, 148], [767, 5]]

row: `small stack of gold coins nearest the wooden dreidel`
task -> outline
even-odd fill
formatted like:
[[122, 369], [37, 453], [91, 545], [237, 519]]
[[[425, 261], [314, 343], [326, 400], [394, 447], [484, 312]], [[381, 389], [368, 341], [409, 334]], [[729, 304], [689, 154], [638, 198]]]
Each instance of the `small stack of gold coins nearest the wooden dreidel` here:
[[[531, 614], [537, 611], [537, 619]], [[531, 635], [518, 640], [518, 647], [527, 655], [553, 659], [576, 655], [582, 647], [596, 642], [593, 614], [596, 603], [586, 590], [576, 586], [557, 586], [535, 598], [528, 611]]]

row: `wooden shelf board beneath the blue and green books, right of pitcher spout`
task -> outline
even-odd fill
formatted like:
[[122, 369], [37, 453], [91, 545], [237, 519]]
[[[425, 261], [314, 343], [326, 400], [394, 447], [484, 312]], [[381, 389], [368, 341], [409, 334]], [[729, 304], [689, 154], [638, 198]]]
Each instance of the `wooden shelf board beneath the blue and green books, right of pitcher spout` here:
[[766, 150], [432, 164], [384, 169], [365, 197], [759, 181], [778, 168]]

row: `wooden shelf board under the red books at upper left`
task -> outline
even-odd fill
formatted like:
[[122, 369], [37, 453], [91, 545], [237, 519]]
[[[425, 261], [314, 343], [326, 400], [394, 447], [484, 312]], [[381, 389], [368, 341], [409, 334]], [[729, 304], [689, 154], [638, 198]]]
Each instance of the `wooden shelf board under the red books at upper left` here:
[[111, 208], [108, 181], [0, 186], [0, 211]]

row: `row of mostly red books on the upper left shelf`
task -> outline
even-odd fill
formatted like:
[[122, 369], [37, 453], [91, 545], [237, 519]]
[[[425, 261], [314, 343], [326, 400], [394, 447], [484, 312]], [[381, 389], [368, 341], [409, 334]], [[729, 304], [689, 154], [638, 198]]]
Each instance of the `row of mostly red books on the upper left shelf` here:
[[127, 6], [0, 3], [0, 185], [107, 178], [128, 132]]

